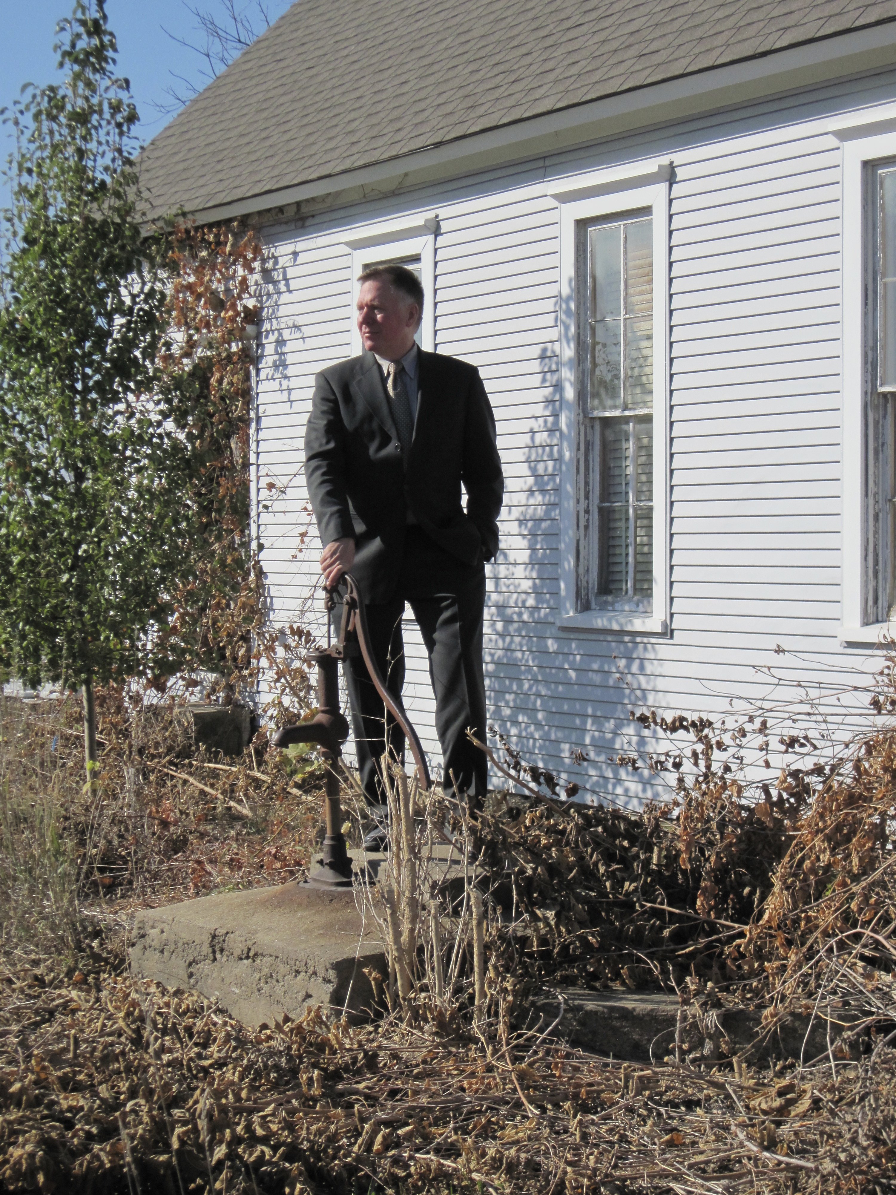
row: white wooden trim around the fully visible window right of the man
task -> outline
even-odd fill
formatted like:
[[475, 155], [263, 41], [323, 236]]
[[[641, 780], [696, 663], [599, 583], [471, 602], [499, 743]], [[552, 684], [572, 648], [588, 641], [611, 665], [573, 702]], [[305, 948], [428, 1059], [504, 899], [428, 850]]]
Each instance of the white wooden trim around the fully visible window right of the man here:
[[[668, 163], [636, 163], [564, 182], [560, 207], [560, 600], [567, 631], [669, 633], [669, 174]], [[645, 185], [645, 178], [650, 182]], [[642, 185], [638, 185], [642, 184]], [[649, 208], [653, 221], [653, 594], [650, 614], [576, 611], [578, 398], [576, 386], [576, 225]]]

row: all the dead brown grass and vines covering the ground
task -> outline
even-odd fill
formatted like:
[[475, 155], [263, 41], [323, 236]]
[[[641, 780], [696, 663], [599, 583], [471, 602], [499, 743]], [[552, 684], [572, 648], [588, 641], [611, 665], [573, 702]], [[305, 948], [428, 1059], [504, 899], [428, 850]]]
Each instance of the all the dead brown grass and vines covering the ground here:
[[[450, 1016], [424, 961], [378, 1024], [309, 1010], [256, 1031], [131, 980], [119, 929], [141, 903], [301, 875], [314, 776], [260, 740], [254, 759], [191, 755], [164, 717], [139, 725], [105, 694], [90, 791], [76, 718], [4, 704], [4, 1190], [896, 1190], [896, 730], [849, 746], [811, 792], [802, 772], [779, 778], [768, 809], [706, 776], [646, 817], [552, 808], [544, 785], [498, 802], [462, 831], [516, 893], [513, 924], [486, 899], [481, 991], [470, 920], [446, 918], [470, 934]], [[692, 1061], [583, 1055], [528, 1016], [535, 983], [657, 969], [702, 1010], [712, 1049]], [[769, 1028], [793, 1007], [826, 1021], [828, 1050], [766, 1070], [731, 1056], [708, 1012], [744, 994]]]

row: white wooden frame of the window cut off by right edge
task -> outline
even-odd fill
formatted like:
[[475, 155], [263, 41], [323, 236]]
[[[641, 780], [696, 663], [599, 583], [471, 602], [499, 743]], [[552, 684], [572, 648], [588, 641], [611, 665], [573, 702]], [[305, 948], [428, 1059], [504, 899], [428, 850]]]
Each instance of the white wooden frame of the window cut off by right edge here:
[[[869, 434], [873, 428], [876, 296], [873, 293], [873, 226], [871, 177], [878, 164], [896, 164], [896, 130], [872, 131], [874, 124], [833, 129], [843, 142], [842, 163], [842, 439], [843, 523], [841, 642], [878, 643], [891, 623], [870, 615], [874, 605], [874, 508], [878, 478]], [[880, 128], [880, 124], [877, 125]], [[863, 133], [871, 133], [864, 135]], [[896, 402], [896, 399], [890, 399]], [[879, 447], [879, 446], [877, 446]]]

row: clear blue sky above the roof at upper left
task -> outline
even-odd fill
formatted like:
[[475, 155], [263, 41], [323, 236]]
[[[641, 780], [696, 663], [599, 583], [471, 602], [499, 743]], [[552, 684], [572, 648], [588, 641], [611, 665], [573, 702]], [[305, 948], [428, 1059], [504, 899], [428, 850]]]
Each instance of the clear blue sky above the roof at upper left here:
[[[276, 20], [290, 0], [269, 0], [268, 11]], [[74, 0], [0, 0], [0, 108], [17, 99], [24, 82], [53, 82], [56, 60], [53, 54], [56, 22], [72, 13]], [[221, 0], [192, 0], [192, 7], [222, 12]], [[250, 7], [245, 0], [245, 7]], [[254, 5], [252, 5], [254, 7]], [[256, 10], [257, 11], [257, 10]], [[118, 71], [130, 79], [141, 117], [141, 137], [151, 140], [171, 116], [161, 116], [152, 103], [165, 103], [165, 88], [174, 81], [171, 72], [202, 85], [205, 63], [198, 54], [178, 45], [165, 32], [204, 43], [195, 32], [195, 18], [184, 0], [106, 0], [109, 24], [118, 39]], [[256, 27], [260, 27], [254, 22]], [[180, 84], [174, 84], [183, 92]], [[11, 142], [0, 131], [0, 161], [5, 165]]]

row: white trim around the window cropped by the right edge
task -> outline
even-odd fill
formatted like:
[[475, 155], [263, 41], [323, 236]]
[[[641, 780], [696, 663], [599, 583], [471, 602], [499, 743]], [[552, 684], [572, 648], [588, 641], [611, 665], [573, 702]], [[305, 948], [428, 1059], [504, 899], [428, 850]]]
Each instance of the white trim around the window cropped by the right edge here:
[[843, 203], [841, 237], [842, 370], [843, 370], [843, 526], [842, 526], [842, 643], [878, 643], [891, 632], [888, 623], [863, 625], [867, 569], [865, 550], [865, 396], [871, 385], [866, 362], [865, 286], [865, 166], [883, 158], [896, 158], [896, 131], [855, 136], [861, 124], [831, 130], [843, 142]]

